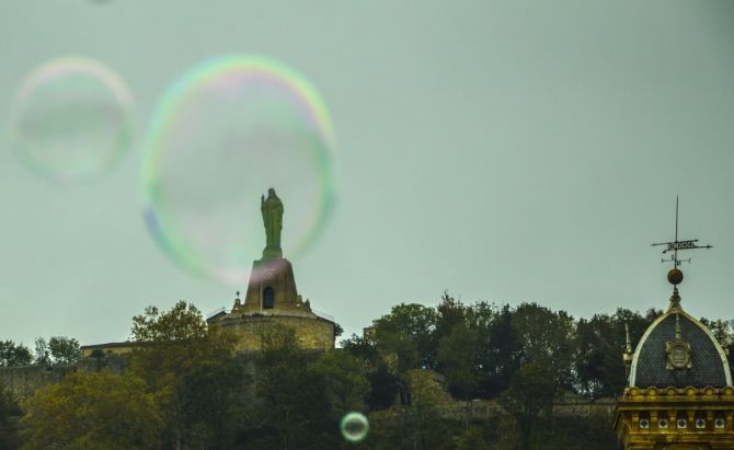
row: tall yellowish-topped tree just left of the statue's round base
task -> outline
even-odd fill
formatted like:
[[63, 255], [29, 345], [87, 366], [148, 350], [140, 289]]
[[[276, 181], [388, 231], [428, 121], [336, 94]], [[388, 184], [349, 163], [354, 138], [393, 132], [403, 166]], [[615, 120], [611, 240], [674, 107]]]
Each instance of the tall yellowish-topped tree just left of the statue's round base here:
[[[239, 373], [232, 366], [233, 338], [209, 332], [198, 309], [184, 301], [164, 312], [146, 308], [144, 314], [133, 318], [131, 334], [137, 347], [130, 356], [130, 371], [159, 399], [164, 446], [181, 448], [205, 438], [227, 440], [230, 424], [216, 420], [234, 419], [226, 415], [239, 389], [239, 383], [232, 382]], [[192, 414], [204, 407], [206, 396], [211, 402], [206, 414]]]

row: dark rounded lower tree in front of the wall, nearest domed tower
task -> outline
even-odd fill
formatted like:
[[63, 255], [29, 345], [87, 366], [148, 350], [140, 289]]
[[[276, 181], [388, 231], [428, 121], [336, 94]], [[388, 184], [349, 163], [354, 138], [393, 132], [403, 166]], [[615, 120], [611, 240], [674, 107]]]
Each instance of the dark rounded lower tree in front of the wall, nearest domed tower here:
[[541, 413], [550, 414], [558, 384], [552, 370], [536, 364], [521, 366], [500, 395], [500, 404], [516, 420], [519, 450], [530, 449], [535, 424]]

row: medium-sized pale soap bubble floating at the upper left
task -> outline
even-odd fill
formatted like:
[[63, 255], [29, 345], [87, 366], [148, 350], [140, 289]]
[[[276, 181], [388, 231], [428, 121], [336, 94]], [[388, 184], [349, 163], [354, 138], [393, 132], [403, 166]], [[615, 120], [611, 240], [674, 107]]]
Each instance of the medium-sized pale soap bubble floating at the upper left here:
[[129, 147], [129, 90], [99, 61], [54, 59], [23, 82], [10, 120], [13, 148], [33, 172], [88, 180], [111, 169]]

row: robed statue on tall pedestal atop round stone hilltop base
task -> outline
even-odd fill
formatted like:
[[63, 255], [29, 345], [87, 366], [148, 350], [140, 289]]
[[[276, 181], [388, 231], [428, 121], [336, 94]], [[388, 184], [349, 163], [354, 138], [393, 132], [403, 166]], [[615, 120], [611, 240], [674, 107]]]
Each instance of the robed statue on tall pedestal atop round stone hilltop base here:
[[274, 189], [261, 199], [261, 211], [266, 244], [263, 257], [252, 265], [244, 303], [238, 296], [229, 313], [222, 311], [207, 319], [209, 326], [232, 332], [239, 351], [260, 349], [263, 333], [275, 326], [293, 328], [305, 349], [334, 348], [334, 322], [313, 313], [309, 300], [298, 295], [293, 266], [283, 257], [284, 208]]

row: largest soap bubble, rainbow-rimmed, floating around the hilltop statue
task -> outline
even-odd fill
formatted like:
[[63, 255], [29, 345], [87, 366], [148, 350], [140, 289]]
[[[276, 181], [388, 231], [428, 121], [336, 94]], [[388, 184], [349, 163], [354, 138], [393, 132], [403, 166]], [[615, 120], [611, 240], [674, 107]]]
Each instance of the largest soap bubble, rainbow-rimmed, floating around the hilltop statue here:
[[271, 59], [229, 56], [184, 73], [163, 94], [147, 140], [144, 215], [182, 266], [246, 280], [265, 246], [260, 201], [285, 205], [282, 246], [301, 255], [333, 199], [333, 130], [311, 84]]

